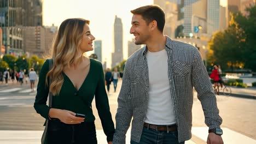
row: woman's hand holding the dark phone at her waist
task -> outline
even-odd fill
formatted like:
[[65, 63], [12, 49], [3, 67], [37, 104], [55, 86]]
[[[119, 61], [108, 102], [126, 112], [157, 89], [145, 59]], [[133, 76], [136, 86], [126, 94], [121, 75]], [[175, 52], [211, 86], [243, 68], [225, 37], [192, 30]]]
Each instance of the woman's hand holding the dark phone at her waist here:
[[49, 111], [51, 118], [59, 118], [61, 122], [66, 124], [78, 124], [84, 122], [84, 118], [75, 117], [75, 113], [68, 110], [53, 109]]

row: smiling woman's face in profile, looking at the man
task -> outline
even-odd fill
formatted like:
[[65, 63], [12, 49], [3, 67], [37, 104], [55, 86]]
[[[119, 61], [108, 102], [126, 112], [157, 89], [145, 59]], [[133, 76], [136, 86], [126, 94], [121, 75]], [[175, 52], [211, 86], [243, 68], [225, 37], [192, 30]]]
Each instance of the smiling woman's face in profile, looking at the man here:
[[83, 37], [79, 45], [79, 49], [83, 53], [94, 50], [94, 48], [92, 48], [92, 41], [94, 40], [95, 40], [95, 37], [94, 35], [91, 34], [89, 25], [85, 23]]

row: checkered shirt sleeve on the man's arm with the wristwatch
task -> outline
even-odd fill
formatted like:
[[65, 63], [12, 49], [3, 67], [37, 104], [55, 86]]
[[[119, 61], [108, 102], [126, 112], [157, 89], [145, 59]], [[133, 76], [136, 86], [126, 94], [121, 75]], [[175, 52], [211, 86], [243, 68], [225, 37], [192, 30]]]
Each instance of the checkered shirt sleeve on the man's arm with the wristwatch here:
[[209, 129], [220, 128], [222, 118], [219, 116], [216, 95], [213, 92], [207, 70], [203, 65], [202, 57], [196, 49], [194, 49], [192, 80], [197, 98], [201, 101], [205, 124]]

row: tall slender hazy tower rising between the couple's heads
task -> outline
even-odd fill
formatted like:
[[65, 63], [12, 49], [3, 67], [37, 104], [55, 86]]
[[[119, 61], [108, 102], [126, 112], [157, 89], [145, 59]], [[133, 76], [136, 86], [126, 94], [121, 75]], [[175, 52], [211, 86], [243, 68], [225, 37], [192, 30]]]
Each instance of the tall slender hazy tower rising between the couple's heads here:
[[112, 68], [122, 62], [123, 57], [123, 23], [115, 16], [114, 22], [114, 52], [112, 53]]

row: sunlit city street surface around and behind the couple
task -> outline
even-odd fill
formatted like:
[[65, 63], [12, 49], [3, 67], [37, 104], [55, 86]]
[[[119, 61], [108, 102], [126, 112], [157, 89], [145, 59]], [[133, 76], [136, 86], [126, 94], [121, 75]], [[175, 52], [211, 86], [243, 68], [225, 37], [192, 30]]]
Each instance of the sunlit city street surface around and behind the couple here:
[[[118, 82], [117, 92], [113, 92], [113, 85], [110, 86], [108, 94], [110, 109], [114, 119], [117, 112], [117, 97], [121, 87], [121, 80]], [[255, 88], [232, 88], [234, 92], [250, 92], [251, 96], [255, 96]], [[245, 93], [243, 92], [243, 93]], [[13, 85], [0, 87], [0, 143], [8, 142], [8, 136], [23, 134], [22, 140], [37, 139], [40, 142], [40, 136], [44, 129], [44, 119], [33, 109], [33, 102], [36, 92], [31, 92], [30, 85], [23, 86]], [[241, 96], [242, 97], [242, 96]], [[256, 99], [224, 97], [217, 96], [217, 103], [220, 110], [220, 116], [223, 118], [222, 128], [224, 131], [224, 143], [256, 143]], [[105, 143], [106, 136], [103, 134], [100, 118], [97, 115], [95, 102], [93, 101], [93, 110], [96, 116], [96, 129], [98, 143], [101, 144], [101, 139]], [[115, 122], [115, 121], [114, 121]], [[7, 131], [8, 130], [8, 131]], [[19, 130], [19, 131], [17, 131]], [[25, 131], [26, 130], [26, 131]], [[32, 133], [31, 133], [31, 130]], [[193, 138], [186, 143], [206, 143], [208, 128], [204, 123], [204, 116], [200, 101], [194, 93], [193, 105]], [[33, 137], [33, 134], [36, 138]], [[11, 135], [11, 136], [10, 136]], [[29, 135], [29, 136], [28, 136]], [[30, 138], [32, 135], [32, 138]], [[11, 139], [11, 138], [10, 138]], [[18, 138], [17, 138], [18, 139]], [[127, 134], [127, 139], [130, 139], [130, 134]], [[28, 141], [28, 140], [27, 140]], [[129, 140], [127, 140], [129, 142]], [[28, 142], [29, 143], [29, 142]]]

